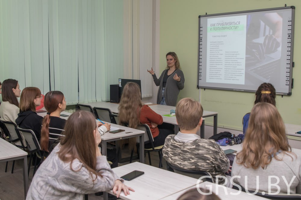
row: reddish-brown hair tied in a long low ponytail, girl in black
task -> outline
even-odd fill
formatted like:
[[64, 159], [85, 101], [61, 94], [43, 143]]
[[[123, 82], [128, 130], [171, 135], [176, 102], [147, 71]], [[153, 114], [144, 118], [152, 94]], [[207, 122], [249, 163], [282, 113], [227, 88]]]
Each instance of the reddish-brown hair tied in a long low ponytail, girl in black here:
[[44, 117], [41, 129], [41, 149], [48, 152], [48, 142], [49, 142], [49, 124], [50, 115], [52, 112], [56, 111], [58, 105], [63, 103], [64, 94], [61, 91], [49, 91], [44, 97], [44, 107], [47, 110], [47, 115]]

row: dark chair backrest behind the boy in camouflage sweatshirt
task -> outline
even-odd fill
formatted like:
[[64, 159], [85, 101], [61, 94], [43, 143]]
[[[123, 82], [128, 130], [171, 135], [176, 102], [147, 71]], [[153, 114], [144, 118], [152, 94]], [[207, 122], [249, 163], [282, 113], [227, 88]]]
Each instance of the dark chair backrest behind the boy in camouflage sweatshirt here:
[[167, 165], [167, 170], [168, 171], [176, 172], [178, 174], [182, 174], [182, 175], [185, 175], [185, 176], [190, 176], [190, 177], [193, 177], [193, 178], [200, 178], [202, 176], [208, 176], [206, 178], [202, 178], [202, 180], [214, 183], [213, 177], [209, 172], [199, 171], [199, 170], [196, 171], [196, 170], [182, 169], [182, 168], [179, 168], [179, 167], [176, 167], [176, 166], [170, 164], [167, 161], [166, 161], [166, 165]]

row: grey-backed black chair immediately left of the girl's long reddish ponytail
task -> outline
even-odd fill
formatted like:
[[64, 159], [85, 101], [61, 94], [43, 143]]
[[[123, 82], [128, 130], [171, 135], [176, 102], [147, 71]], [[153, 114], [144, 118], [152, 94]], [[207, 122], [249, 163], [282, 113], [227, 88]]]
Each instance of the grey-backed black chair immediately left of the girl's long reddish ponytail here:
[[[27, 148], [30, 152], [30, 159], [29, 159], [29, 166], [28, 166], [28, 175], [29, 175], [29, 170], [30, 170], [30, 164], [31, 164], [31, 159], [36, 156], [36, 160], [35, 160], [35, 167], [33, 169], [33, 175], [36, 172], [36, 167], [39, 166], [43, 160], [43, 154], [41, 151], [41, 146], [39, 144], [39, 141], [36, 137], [36, 134], [33, 132], [33, 130], [30, 129], [23, 129], [20, 127], [17, 127], [17, 129], [20, 131], [20, 133], [23, 134], [26, 143], [27, 143]], [[40, 162], [37, 163], [38, 158], [40, 159]]]

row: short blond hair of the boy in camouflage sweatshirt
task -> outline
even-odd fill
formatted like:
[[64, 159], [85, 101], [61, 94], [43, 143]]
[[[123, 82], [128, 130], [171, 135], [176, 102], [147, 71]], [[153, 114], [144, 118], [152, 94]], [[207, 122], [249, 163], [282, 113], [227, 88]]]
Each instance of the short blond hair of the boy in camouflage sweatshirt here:
[[192, 98], [181, 99], [175, 108], [178, 125], [184, 130], [192, 130], [197, 127], [202, 116], [202, 105]]

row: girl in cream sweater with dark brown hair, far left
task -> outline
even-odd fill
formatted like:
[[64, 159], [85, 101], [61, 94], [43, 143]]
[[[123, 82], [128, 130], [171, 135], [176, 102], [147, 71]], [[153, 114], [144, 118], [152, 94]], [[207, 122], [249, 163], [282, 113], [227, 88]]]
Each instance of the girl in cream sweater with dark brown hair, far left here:
[[[2, 103], [0, 106], [0, 117], [3, 121], [16, 123], [19, 113], [20, 86], [15, 79], [6, 79], [2, 82]], [[20, 143], [21, 144], [21, 143]]]

